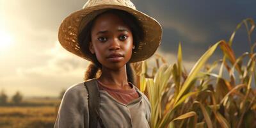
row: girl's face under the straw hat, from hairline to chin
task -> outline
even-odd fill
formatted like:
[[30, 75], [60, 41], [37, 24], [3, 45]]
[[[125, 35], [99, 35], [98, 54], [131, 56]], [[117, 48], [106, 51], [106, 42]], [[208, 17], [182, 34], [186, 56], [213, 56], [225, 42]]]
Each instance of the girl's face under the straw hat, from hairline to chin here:
[[132, 56], [132, 32], [122, 19], [113, 13], [97, 17], [91, 31], [90, 52], [96, 54], [102, 67], [117, 70]]

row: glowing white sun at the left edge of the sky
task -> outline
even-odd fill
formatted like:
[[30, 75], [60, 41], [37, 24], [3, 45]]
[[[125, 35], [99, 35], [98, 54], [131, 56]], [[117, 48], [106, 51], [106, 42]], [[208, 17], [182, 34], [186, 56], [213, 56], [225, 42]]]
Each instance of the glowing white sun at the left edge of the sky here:
[[8, 49], [12, 45], [12, 42], [12, 36], [0, 29], [0, 52]]

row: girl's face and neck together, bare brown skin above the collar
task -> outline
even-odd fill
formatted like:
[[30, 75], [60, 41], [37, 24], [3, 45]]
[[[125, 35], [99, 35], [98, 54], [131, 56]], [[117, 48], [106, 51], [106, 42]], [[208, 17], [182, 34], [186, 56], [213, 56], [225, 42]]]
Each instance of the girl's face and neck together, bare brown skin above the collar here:
[[113, 89], [131, 89], [126, 74], [133, 47], [129, 26], [115, 14], [104, 13], [97, 17], [91, 32], [90, 52], [102, 64], [98, 81]]

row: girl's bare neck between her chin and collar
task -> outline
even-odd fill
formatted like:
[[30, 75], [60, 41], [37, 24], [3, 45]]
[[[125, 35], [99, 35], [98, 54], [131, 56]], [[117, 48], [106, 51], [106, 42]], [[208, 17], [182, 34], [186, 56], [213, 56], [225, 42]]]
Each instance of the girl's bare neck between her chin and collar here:
[[126, 72], [126, 65], [118, 70], [102, 67], [102, 73], [98, 80], [108, 86], [124, 86], [128, 84]]

